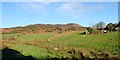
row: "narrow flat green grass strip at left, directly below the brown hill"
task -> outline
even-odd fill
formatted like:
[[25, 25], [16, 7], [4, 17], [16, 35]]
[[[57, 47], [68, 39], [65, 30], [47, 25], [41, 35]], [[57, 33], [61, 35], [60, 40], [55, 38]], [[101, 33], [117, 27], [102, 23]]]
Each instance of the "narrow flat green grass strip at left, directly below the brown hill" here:
[[3, 39], [8, 39], [10, 37], [15, 37], [18, 41], [33, 41], [33, 40], [45, 40], [55, 35], [55, 33], [41, 33], [41, 34], [3, 34]]

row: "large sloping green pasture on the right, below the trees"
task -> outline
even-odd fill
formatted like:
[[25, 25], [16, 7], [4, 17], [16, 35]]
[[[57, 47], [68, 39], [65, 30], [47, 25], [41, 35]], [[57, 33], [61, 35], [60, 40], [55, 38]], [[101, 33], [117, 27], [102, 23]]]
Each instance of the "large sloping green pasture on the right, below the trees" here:
[[116, 50], [118, 49], [118, 33], [94, 34], [94, 35], [79, 35], [73, 33], [70, 35], [61, 36], [55, 40], [51, 40], [49, 45], [63, 45], [66, 47], [83, 48], [83, 49], [100, 49], [100, 50]]

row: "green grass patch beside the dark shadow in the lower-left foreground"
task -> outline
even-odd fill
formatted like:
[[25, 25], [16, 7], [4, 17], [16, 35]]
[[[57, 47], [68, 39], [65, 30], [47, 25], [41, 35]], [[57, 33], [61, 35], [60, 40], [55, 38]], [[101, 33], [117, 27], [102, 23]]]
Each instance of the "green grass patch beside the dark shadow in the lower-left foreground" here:
[[28, 56], [31, 55], [35, 58], [44, 58], [45, 56], [49, 55], [50, 53], [47, 52], [46, 49], [42, 49], [35, 46], [29, 45], [20, 45], [20, 44], [8, 44], [9, 48], [15, 49], [21, 52], [23, 55]]

